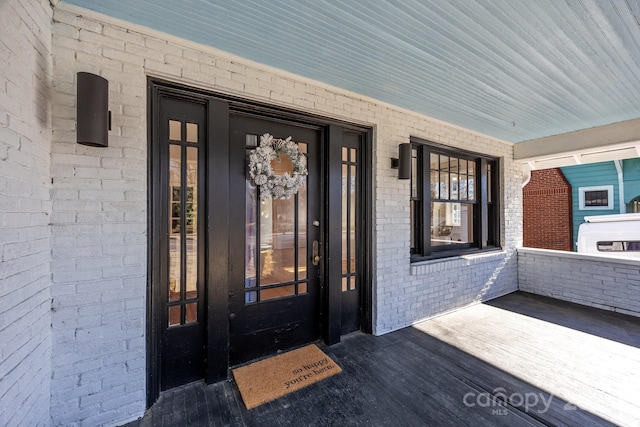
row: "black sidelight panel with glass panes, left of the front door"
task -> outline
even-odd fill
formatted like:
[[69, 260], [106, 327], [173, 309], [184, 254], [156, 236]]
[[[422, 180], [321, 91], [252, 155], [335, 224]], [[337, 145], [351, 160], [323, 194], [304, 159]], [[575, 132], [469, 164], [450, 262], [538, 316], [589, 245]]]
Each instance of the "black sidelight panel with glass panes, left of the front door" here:
[[206, 105], [161, 97], [154, 144], [153, 262], [161, 273], [152, 285], [160, 307], [160, 389], [166, 390], [202, 378], [205, 368]]

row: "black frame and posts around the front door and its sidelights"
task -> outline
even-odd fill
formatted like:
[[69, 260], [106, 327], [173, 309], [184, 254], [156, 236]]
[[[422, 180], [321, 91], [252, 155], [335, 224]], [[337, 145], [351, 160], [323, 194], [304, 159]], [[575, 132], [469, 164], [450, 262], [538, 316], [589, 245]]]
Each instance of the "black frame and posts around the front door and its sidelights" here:
[[[320, 161], [321, 197], [324, 198], [322, 215], [326, 219], [321, 233], [324, 241], [323, 263], [320, 280], [325, 283], [320, 295], [320, 334], [328, 344], [340, 342], [341, 328], [341, 279], [340, 257], [329, 257], [329, 253], [341, 253], [341, 141], [343, 132], [361, 135], [362, 183], [361, 224], [359, 243], [362, 286], [360, 289], [360, 323], [364, 333], [372, 332], [372, 286], [373, 286], [373, 129], [345, 121], [331, 119], [292, 109], [258, 103], [239, 97], [218, 94], [193, 88], [159, 78], [147, 79], [147, 144], [148, 144], [148, 202], [147, 202], [147, 407], [155, 403], [160, 395], [160, 301], [153, 283], [161, 274], [159, 249], [159, 224], [166, 218], [153, 215], [162, 212], [159, 206], [160, 162], [159, 149], [154, 146], [155, 129], [159, 125], [159, 100], [172, 97], [204, 103], [207, 109], [206, 147], [206, 226], [207, 283], [206, 300], [206, 346], [207, 362], [205, 381], [214, 383], [225, 380], [229, 374], [229, 270], [233, 268], [229, 255], [229, 116], [232, 112], [256, 115], [264, 119], [286, 120], [294, 123], [324, 128]], [[212, 179], [213, 171], [216, 178]], [[336, 192], [337, 191], [337, 192]], [[244, 195], [244, 193], [243, 193]], [[330, 197], [333, 195], [333, 197]], [[215, 197], [214, 197], [215, 196]], [[332, 220], [333, 218], [333, 220]], [[164, 224], [167, 224], [165, 221]], [[337, 251], [337, 252], [336, 252]], [[337, 268], [336, 268], [337, 267]]]

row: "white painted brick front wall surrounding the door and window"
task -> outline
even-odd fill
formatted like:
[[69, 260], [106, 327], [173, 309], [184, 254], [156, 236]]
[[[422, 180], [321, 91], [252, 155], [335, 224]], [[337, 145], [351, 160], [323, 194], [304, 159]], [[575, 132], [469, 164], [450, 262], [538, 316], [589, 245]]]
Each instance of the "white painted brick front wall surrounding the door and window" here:
[[[147, 76], [374, 128], [376, 333], [517, 289], [521, 171], [509, 144], [65, 3], [54, 13], [53, 58], [56, 425], [115, 423], [144, 409]], [[108, 148], [75, 144], [79, 71], [109, 80]], [[389, 161], [410, 136], [503, 159], [503, 252], [412, 268], [409, 184]]]

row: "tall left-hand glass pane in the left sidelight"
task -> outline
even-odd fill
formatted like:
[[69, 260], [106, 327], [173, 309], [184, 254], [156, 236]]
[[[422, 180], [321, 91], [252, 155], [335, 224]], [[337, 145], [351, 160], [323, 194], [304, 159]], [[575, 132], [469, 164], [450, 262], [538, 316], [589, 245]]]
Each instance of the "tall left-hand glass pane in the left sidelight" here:
[[181, 240], [182, 227], [182, 150], [179, 145], [169, 145], [169, 301], [180, 299], [182, 285]]

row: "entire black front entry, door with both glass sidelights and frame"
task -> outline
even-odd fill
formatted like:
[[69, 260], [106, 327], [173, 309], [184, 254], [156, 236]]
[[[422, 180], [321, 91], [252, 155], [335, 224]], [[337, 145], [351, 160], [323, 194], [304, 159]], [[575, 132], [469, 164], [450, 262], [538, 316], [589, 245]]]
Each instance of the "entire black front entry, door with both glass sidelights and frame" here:
[[[149, 96], [149, 404], [229, 366], [369, 331], [367, 132], [167, 83], [150, 81]], [[248, 175], [265, 133], [306, 155], [306, 185], [289, 199], [261, 197]]]

